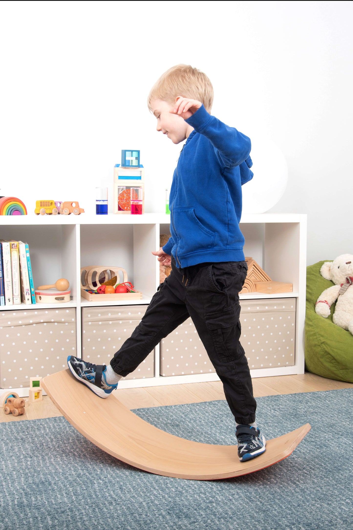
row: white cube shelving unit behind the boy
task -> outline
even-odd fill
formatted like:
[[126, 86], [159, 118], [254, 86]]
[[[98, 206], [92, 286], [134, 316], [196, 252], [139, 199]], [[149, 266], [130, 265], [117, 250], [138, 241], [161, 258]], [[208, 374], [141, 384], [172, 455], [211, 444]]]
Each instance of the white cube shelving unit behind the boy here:
[[[60, 307], [76, 307], [77, 351], [81, 347], [81, 308], [87, 306], [149, 304], [159, 285], [159, 262], [151, 253], [159, 249], [159, 234], [169, 233], [170, 216], [0, 216], [0, 238], [26, 241], [31, 252], [35, 287], [58, 278], [70, 281], [73, 300]], [[306, 290], [306, 215], [245, 214], [240, 228], [244, 253], [254, 258], [276, 281], [293, 284], [293, 293], [248, 294], [242, 299], [296, 298], [295, 365], [250, 370], [252, 377], [304, 373], [304, 321]], [[88, 302], [80, 296], [80, 268], [89, 265], [123, 267], [129, 281], [143, 293], [141, 300]], [[1, 312], [48, 308], [51, 304], [2, 306]], [[163, 377], [159, 375], [159, 346], [155, 348], [155, 375], [120, 382], [121, 388], [218, 381], [216, 374]], [[25, 395], [26, 388], [11, 390]], [[2, 391], [0, 391], [2, 393]]]

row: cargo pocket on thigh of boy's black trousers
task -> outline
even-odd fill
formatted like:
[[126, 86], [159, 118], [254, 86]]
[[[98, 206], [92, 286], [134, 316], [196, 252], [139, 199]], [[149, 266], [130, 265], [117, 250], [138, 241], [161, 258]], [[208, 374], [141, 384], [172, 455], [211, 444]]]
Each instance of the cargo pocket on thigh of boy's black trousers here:
[[228, 363], [238, 356], [241, 331], [239, 315], [240, 305], [230, 311], [205, 315], [206, 325], [210, 330], [220, 363]]

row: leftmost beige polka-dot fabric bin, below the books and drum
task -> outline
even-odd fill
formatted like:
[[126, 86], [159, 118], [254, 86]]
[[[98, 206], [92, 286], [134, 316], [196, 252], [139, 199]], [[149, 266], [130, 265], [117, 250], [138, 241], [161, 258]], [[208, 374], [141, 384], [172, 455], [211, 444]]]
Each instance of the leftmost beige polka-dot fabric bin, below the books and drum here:
[[75, 308], [0, 311], [0, 387], [30, 386], [76, 355]]

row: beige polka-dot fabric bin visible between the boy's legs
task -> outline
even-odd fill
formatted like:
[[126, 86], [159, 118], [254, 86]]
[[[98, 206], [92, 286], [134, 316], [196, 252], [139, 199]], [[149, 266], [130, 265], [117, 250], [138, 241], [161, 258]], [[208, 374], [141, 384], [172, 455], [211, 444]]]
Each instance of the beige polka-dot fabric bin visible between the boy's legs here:
[[215, 372], [191, 317], [161, 340], [159, 351], [162, 376]]

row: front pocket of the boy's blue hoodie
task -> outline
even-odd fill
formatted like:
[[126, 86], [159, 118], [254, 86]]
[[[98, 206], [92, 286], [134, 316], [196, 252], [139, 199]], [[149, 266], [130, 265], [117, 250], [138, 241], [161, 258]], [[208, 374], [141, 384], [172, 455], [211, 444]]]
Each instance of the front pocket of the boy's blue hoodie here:
[[216, 232], [211, 232], [200, 223], [194, 208], [173, 208], [173, 217], [180, 254], [213, 248]]

